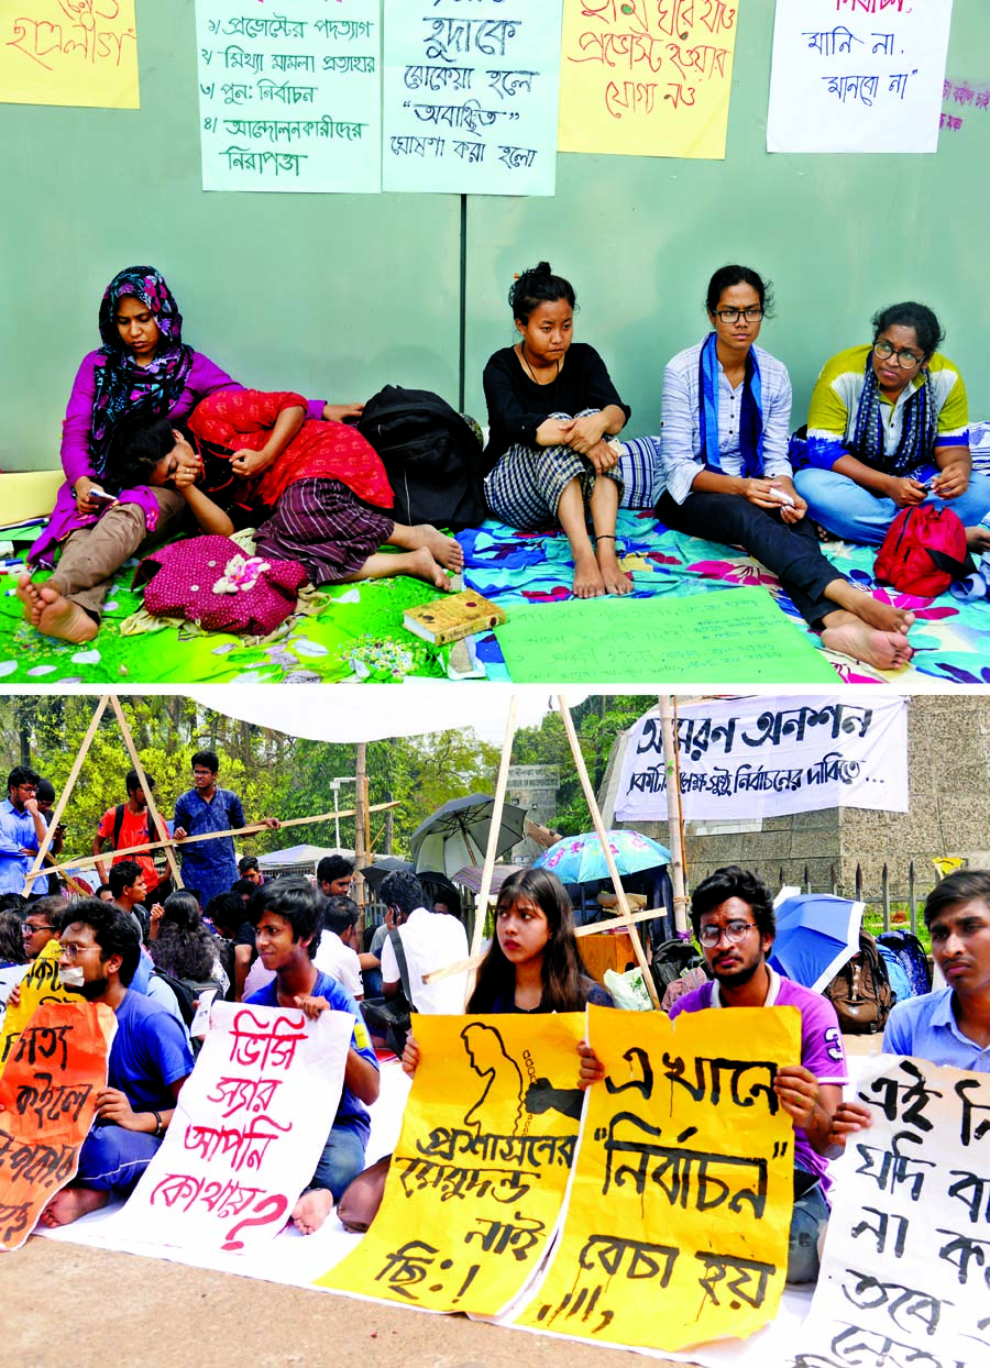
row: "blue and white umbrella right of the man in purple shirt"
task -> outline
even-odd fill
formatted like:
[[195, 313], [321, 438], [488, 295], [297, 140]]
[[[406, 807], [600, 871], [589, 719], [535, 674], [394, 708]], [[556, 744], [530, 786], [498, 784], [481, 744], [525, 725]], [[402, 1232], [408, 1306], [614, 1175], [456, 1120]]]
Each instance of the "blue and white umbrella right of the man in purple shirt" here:
[[776, 937], [770, 963], [796, 984], [822, 992], [860, 951], [863, 903], [785, 888], [775, 907]]

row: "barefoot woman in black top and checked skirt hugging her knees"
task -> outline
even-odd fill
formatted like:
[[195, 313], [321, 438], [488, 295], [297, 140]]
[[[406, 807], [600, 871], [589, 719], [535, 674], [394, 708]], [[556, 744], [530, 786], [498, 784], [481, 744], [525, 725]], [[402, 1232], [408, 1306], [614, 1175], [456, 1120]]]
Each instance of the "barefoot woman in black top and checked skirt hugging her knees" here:
[[564, 529], [575, 598], [629, 594], [615, 544], [620, 453], [607, 438], [631, 410], [594, 347], [571, 341], [574, 289], [546, 261], [519, 276], [509, 304], [520, 341], [485, 367], [487, 505], [520, 531]]

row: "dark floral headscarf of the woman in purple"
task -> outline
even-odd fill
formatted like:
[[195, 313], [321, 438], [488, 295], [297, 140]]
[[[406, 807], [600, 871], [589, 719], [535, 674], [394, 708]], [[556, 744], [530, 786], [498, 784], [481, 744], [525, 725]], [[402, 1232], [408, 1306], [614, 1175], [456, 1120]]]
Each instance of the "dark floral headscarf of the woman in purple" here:
[[[151, 365], [138, 365], [125, 346], [116, 323], [123, 295], [133, 294], [155, 315], [162, 338]], [[166, 417], [178, 404], [193, 364], [193, 350], [182, 343], [182, 315], [164, 282], [151, 265], [129, 265], [107, 286], [100, 301], [100, 356], [93, 379], [90, 453], [97, 479], [104, 475], [107, 450], [122, 417]]]

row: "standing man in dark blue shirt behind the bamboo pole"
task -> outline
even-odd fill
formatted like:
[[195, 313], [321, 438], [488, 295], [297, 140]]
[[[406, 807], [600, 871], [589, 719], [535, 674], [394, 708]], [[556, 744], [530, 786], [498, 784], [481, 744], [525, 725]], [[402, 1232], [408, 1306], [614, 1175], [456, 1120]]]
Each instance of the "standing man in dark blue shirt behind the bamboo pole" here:
[[[220, 761], [216, 751], [197, 751], [193, 755], [193, 787], [175, 803], [177, 841], [188, 836], [210, 832], [240, 830], [244, 825], [241, 800], [229, 788], [218, 788]], [[263, 826], [277, 828], [278, 819], [266, 817]], [[181, 852], [182, 882], [199, 893], [200, 907], [211, 897], [226, 893], [237, 880], [237, 859], [233, 836], [219, 836], [212, 841], [197, 841]]]

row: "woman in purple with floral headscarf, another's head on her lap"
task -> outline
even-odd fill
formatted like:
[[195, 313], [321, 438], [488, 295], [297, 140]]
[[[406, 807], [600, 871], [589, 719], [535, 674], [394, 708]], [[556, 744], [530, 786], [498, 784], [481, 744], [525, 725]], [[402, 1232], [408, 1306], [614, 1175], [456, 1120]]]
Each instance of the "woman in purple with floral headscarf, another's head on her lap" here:
[[[25, 617], [47, 636], [89, 642], [100, 629], [112, 576], [153, 534], [166, 536], [185, 516], [174, 490], [123, 486], [104, 488], [107, 456], [122, 419], [186, 419], [201, 398], [238, 390], [236, 380], [182, 341], [182, 315], [164, 278], [153, 267], [133, 265], [107, 286], [100, 304], [103, 346], [82, 358], [66, 410], [59, 490], [51, 523], [30, 558], [55, 575], [36, 584], [22, 575], [18, 595]], [[360, 405], [308, 405], [311, 417], [342, 420]]]

